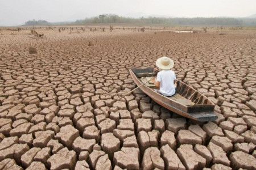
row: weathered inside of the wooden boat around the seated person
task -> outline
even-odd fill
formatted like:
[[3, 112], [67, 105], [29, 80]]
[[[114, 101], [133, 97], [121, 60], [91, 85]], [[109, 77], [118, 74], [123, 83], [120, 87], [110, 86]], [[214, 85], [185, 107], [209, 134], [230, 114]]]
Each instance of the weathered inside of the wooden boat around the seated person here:
[[[154, 72], [153, 68], [147, 69], [132, 69], [134, 74], [137, 76], [142, 83], [146, 83], [145, 85], [152, 90], [158, 89], [154, 83], [150, 80], [152, 76], [157, 75], [157, 71]], [[176, 94], [174, 96], [168, 97], [171, 100], [176, 101], [177, 103], [192, 106], [192, 105], [208, 105], [212, 104], [207, 97], [201, 95], [195, 89], [189, 87], [187, 84], [180, 82], [177, 80], [177, 89]]]

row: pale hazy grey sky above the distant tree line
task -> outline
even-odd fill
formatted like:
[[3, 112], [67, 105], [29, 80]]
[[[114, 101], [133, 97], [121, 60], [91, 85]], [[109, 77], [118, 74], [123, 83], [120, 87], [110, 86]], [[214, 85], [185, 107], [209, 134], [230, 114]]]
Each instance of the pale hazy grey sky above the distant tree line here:
[[75, 21], [100, 14], [139, 17], [245, 17], [256, 14], [255, 0], [0, 0], [0, 25], [27, 20]]

